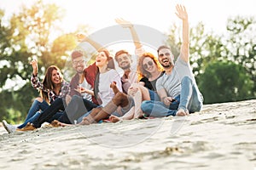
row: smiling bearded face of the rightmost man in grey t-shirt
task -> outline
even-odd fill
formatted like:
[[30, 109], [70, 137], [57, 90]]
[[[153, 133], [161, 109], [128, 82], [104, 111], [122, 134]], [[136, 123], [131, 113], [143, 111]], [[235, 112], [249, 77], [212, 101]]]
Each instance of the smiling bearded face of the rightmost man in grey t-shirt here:
[[165, 68], [170, 68], [172, 65], [174, 65], [174, 57], [170, 49], [168, 48], [162, 48], [159, 50], [158, 53], [158, 60], [160, 64]]

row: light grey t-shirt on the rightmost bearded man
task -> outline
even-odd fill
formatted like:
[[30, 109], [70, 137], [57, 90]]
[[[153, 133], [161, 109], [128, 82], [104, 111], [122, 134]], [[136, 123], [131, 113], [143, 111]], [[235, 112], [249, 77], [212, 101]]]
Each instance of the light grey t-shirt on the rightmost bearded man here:
[[195, 77], [189, 63], [178, 57], [172, 69], [172, 73], [170, 75], [166, 75], [165, 73], [157, 80], [156, 90], [165, 88], [167, 95], [175, 98], [181, 92], [181, 81], [185, 76], [188, 76], [195, 82]]

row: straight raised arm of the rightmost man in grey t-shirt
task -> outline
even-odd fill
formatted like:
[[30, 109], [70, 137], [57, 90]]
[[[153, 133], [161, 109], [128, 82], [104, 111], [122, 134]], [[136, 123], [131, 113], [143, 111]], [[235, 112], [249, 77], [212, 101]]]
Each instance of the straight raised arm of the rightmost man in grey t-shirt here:
[[176, 15], [183, 20], [183, 42], [181, 46], [181, 59], [189, 62], [189, 19], [186, 8], [183, 5], [176, 5]]

